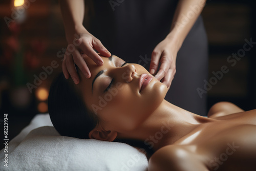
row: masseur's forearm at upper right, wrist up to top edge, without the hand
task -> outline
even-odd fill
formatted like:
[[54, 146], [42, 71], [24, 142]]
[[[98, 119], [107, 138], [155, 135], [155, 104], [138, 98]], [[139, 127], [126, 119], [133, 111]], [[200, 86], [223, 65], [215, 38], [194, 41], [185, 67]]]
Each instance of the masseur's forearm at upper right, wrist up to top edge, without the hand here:
[[166, 38], [176, 42], [178, 50], [202, 12], [205, 3], [206, 0], [180, 0], [178, 2], [172, 27], [166, 36]]

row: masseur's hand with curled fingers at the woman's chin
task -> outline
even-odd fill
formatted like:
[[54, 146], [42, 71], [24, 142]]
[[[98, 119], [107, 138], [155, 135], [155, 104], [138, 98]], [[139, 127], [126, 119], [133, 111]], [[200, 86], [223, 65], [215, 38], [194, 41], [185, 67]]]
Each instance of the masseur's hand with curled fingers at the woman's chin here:
[[[168, 37], [162, 40], [152, 52], [150, 73], [169, 89], [176, 73], [177, 46]], [[157, 72], [158, 66], [159, 71]]]

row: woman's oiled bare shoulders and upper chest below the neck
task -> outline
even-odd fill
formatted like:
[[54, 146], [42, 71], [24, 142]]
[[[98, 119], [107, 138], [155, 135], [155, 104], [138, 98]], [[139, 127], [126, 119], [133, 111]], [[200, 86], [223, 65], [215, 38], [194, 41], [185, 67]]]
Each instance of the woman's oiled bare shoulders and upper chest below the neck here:
[[208, 119], [158, 149], [148, 171], [256, 170], [256, 110], [244, 112], [232, 103], [220, 102], [212, 106]]

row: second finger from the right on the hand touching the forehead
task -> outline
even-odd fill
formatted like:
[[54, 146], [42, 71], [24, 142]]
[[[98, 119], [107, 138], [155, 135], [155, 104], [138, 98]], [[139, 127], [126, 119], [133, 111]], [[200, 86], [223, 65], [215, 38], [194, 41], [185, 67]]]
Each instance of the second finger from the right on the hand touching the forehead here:
[[102, 66], [103, 65], [103, 60], [95, 52], [95, 50], [92, 48], [93, 46], [89, 44], [89, 42], [84, 42], [79, 45], [79, 48], [87, 55], [89, 56], [97, 65]]

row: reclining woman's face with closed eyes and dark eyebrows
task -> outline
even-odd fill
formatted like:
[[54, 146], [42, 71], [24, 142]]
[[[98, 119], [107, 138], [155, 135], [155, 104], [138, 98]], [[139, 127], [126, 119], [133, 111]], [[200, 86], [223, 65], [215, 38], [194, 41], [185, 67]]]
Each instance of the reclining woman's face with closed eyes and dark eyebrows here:
[[[80, 72], [82, 97], [105, 130], [133, 131], [164, 99], [167, 87], [145, 68], [117, 56], [103, 57], [103, 66], [84, 55], [91, 78]], [[142, 75], [143, 74], [143, 75]], [[102, 122], [103, 121], [103, 122]]]

